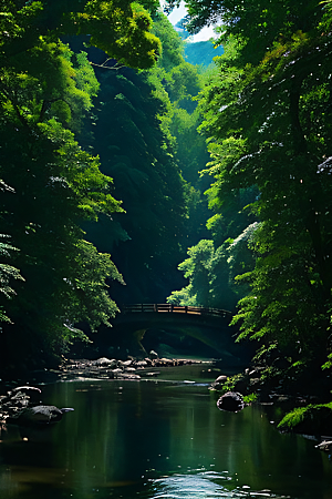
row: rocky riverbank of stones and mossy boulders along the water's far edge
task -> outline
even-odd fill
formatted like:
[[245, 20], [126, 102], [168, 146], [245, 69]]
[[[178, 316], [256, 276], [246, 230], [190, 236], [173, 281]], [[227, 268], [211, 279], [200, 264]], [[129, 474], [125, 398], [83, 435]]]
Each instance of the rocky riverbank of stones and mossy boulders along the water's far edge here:
[[[169, 368], [173, 367], [197, 364], [203, 365], [201, 371], [209, 373], [209, 377], [212, 373], [218, 375], [208, 388], [211, 390], [211, 395], [215, 393], [219, 409], [238, 411], [248, 404], [267, 406], [264, 410], [269, 413], [271, 424], [278, 430], [292, 430], [314, 435], [318, 441], [320, 441], [319, 438], [321, 436], [321, 439], [324, 441], [318, 445], [318, 448], [331, 451], [331, 438], [326, 438], [326, 436], [332, 434], [332, 407], [330, 407], [330, 404], [319, 404], [318, 397], [311, 394], [286, 393], [282, 389], [282, 383], [279, 385], [267, 383], [264, 371], [260, 367], [246, 368], [241, 374], [229, 376], [221, 374], [221, 365], [218, 366], [218, 363], [208, 363], [209, 366], [206, 366], [206, 361], [194, 359], [158, 357], [146, 357], [143, 360], [135, 358], [121, 360], [106, 357], [97, 358], [96, 360], [64, 359], [58, 368], [40, 373], [40, 376], [44, 376], [44, 379], [40, 380], [40, 383], [45, 383], [48, 377], [50, 377], [50, 383], [75, 379], [141, 380], [158, 377], [158, 375], [163, 376], [165, 369], [169, 373]], [[15, 388], [10, 390], [7, 388], [8, 391], [2, 391], [3, 395], [0, 395], [0, 422], [6, 422], [8, 417], [15, 418], [27, 407], [41, 404], [40, 388], [30, 385], [18, 386], [17, 383], [13, 381], [9, 385], [17, 386]], [[23, 383], [28, 383], [28, 380]], [[33, 377], [30, 383], [39, 384]], [[278, 416], [276, 417], [277, 413]], [[280, 425], [290, 414], [294, 415], [291, 416], [291, 424], [288, 426], [286, 424]]]

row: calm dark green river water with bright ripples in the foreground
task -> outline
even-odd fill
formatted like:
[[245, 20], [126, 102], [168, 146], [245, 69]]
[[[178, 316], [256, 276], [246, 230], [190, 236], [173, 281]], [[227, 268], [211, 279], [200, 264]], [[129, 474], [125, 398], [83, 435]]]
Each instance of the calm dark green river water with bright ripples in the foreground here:
[[50, 430], [1, 432], [0, 498], [332, 499], [315, 442], [280, 435], [260, 406], [218, 410], [203, 369], [44, 386], [45, 404], [75, 410]]

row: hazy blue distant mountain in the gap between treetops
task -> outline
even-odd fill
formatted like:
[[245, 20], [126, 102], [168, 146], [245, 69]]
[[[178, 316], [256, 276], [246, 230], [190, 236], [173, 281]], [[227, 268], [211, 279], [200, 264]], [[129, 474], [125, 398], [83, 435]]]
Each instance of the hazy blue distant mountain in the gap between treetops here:
[[186, 42], [185, 45], [185, 59], [190, 64], [199, 64], [207, 68], [212, 59], [217, 55], [221, 55], [224, 53], [222, 47], [214, 48], [214, 44], [210, 40], [200, 41], [200, 42], [191, 42], [190, 33], [185, 28], [184, 24], [185, 19], [178, 21], [174, 29], [178, 32], [181, 39]]

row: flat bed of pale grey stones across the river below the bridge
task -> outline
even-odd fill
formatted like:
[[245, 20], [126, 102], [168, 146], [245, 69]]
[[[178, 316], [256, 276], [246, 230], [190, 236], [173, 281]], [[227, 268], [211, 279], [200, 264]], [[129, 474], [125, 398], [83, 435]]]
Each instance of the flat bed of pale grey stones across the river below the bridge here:
[[60, 370], [62, 379], [97, 378], [97, 379], [141, 379], [142, 377], [157, 376], [159, 367], [184, 366], [198, 364], [199, 360], [169, 359], [169, 358], [135, 358], [128, 360], [110, 359], [106, 357], [96, 360], [68, 360]]

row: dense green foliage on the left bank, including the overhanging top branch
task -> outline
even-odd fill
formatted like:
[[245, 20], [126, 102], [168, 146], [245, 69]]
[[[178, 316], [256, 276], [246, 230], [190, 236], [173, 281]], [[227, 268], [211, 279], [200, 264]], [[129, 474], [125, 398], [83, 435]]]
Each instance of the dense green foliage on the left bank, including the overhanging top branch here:
[[105, 279], [122, 276], [81, 228], [123, 211], [98, 157], [75, 138], [98, 82], [86, 54], [59, 37], [89, 33], [108, 57], [148, 68], [160, 51], [151, 24], [127, 1], [1, 2], [2, 368], [45, 359], [84, 337], [75, 324], [94, 330], [117, 310]]

